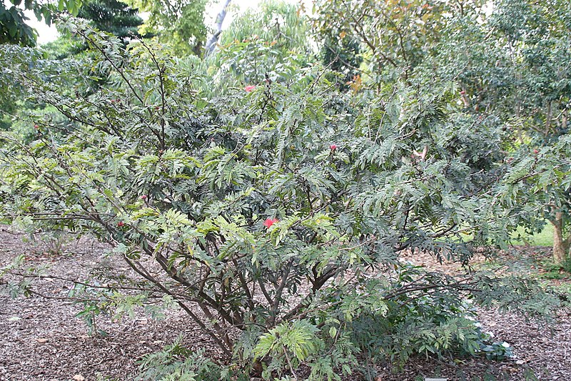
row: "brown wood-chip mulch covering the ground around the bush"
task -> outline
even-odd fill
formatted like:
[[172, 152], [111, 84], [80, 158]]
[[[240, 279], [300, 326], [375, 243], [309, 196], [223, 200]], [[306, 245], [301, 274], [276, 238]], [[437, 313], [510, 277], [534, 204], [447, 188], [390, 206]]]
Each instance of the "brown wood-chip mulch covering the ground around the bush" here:
[[[23, 242], [23, 237], [1, 229], [0, 267], [24, 254], [29, 264], [49, 265], [48, 273], [56, 277], [86, 279], [94, 267], [104, 263], [107, 270], [136, 278], [121, 260], [104, 259], [107, 247], [93, 240], [74, 240], [59, 253], [51, 254], [50, 247], [41, 242]], [[549, 255], [547, 249], [533, 248], [503, 255], [509, 257], [514, 253], [532, 263]], [[458, 264], [439, 264], [430, 255], [415, 254], [406, 259], [450, 273], [460, 269]], [[553, 282], [571, 284], [565, 277]], [[85, 322], [76, 317], [83, 310], [82, 305], [67, 298], [70, 288], [69, 282], [41, 279], [34, 283], [39, 295], [16, 299], [0, 295], [0, 380], [133, 380], [137, 361], [170, 344], [178, 335], [183, 336], [187, 347], [204, 348], [208, 355], [216, 357], [211, 339], [180, 310], [168, 310], [163, 320], [151, 320], [143, 312], [119, 321], [100, 316], [97, 327], [106, 335], [89, 335]], [[443, 377], [449, 381], [571, 380], [568, 311], [560, 311], [559, 321], [550, 327], [493, 310], [481, 310], [478, 317], [484, 330], [492, 332], [498, 341], [512, 345], [514, 358], [502, 362], [482, 358], [415, 358], [400, 370], [378, 365], [376, 380], [424, 380], [424, 377]], [[347, 380], [363, 380], [363, 377], [355, 374]]]

